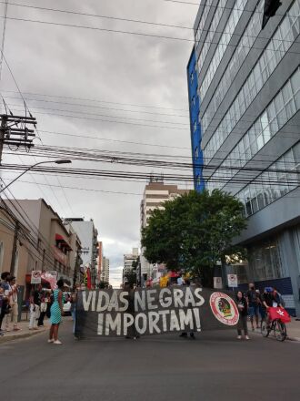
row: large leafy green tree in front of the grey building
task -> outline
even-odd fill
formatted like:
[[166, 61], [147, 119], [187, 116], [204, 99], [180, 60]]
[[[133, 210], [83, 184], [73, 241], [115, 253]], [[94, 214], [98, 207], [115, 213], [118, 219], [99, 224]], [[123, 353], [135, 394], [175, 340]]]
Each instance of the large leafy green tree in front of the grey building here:
[[183, 270], [212, 286], [216, 262], [227, 255], [243, 259], [233, 239], [246, 227], [243, 205], [234, 196], [213, 190], [195, 190], [155, 209], [142, 231], [145, 258], [165, 262], [168, 270]]

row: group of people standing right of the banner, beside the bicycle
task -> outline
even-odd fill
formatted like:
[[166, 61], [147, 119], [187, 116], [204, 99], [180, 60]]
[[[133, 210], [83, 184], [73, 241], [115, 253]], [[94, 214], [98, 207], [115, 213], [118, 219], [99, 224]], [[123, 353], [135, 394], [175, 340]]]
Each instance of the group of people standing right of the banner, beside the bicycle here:
[[237, 339], [242, 338], [244, 331], [245, 339], [249, 340], [248, 319], [250, 320], [252, 331], [260, 330], [259, 318], [266, 320], [267, 326], [270, 325], [268, 308], [280, 306], [285, 307], [283, 297], [273, 287], [265, 287], [263, 293], [255, 289], [254, 283], [249, 283], [249, 289], [246, 293], [238, 291], [236, 294], [236, 303], [239, 311], [239, 322], [237, 324]]

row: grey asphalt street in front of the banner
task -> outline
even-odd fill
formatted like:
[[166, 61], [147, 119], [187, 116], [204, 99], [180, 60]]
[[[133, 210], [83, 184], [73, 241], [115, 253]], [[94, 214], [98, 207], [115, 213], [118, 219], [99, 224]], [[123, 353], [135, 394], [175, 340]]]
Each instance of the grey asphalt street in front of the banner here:
[[63, 345], [46, 334], [0, 345], [5, 401], [299, 400], [300, 343], [235, 331], [75, 341], [65, 318]]

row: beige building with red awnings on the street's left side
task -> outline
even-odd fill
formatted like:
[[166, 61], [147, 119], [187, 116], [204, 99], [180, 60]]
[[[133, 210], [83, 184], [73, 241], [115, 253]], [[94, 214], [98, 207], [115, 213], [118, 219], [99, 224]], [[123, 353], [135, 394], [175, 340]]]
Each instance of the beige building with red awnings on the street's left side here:
[[81, 247], [75, 231], [66, 227], [64, 221], [43, 199], [5, 200], [5, 206], [9, 207], [15, 221], [18, 221], [15, 263], [20, 261], [21, 250], [24, 252], [26, 249], [28, 254], [26, 267], [22, 267], [22, 276], [25, 270], [24, 278], [18, 276], [20, 266], [15, 266], [18, 280], [25, 280], [26, 292], [30, 287], [33, 270], [55, 271], [57, 277], [72, 286], [76, 255]]

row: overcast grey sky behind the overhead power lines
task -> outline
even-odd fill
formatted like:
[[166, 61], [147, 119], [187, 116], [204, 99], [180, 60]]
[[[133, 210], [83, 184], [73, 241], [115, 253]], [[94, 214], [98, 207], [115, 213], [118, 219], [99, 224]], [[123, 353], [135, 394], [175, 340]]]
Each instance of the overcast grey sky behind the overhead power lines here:
[[[15, 0], [15, 3], [186, 27], [194, 25], [197, 12], [197, 5], [165, 0]], [[4, 5], [0, 6], [1, 15], [4, 15]], [[37, 118], [44, 145], [189, 158], [185, 68], [193, 46], [191, 41], [9, 18], [193, 40], [192, 30], [15, 5], [8, 5], [7, 16], [5, 57], [26, 104]], [[14, 112], [24, 112], [15, 82], [5, 64], [1, 92]], [[35, 140], [35, 143], [40, 145], [41, 141]], [[29, 164], [43, 159], [4, 154], [3, 161]], [[72, 167], [143, 170], [136, 166], [115, 167], [109, 163], [76, 160]], [[155, 168], [144, 170], [149, 174], [164, 172]], [[14, 173], [5, 173], [3, 178], [9, 180], [14, 176]], [[85, 217], [95, 221], [99, 240], [104, 243], [105, 256], [110, 259], [111, 282], [119, 283], [123, 254], [139, 246], [139, 205], [145, 181], [62, 176], [57, 179], [29, 173], [22, 180], [27, 182], [15, 182], [11, 187], [16, 198], [43, 197], [62, 217]], [[49, 184], [53, 187], [50, 188]], [[80, 190], [62, 190], [60, 186]], [[191, 184], [182, 186], [190, 188]]]

